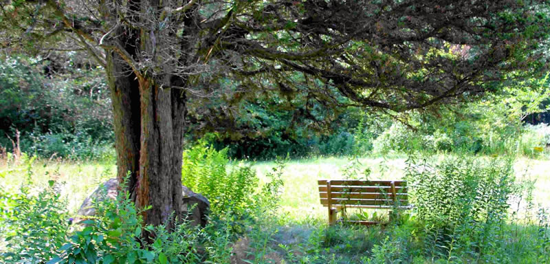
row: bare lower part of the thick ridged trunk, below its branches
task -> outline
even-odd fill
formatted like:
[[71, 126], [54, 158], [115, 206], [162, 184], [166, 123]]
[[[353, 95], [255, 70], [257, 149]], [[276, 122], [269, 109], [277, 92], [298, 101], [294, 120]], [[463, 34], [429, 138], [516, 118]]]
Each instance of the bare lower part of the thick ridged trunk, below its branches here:
[[170, 216], [181, 217], [183, 202], [184, 91], [161, 88], [150, 78], [136, 78], [114, 52], [107, 61], [118, 181], [128, 175], [126, 190], [136, 208], [151, 206], [143, 212], [145, 224], [172, 226]]

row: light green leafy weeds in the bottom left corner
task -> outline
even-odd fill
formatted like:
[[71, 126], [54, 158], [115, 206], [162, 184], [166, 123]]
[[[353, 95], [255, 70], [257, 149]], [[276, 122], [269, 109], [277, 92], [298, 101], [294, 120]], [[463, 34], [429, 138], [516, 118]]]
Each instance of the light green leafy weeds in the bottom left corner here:
[[30, 182], [19, 192], [0, 187], [0, 241], [6, 243], [0, 256], [5, 263], [49, 261], [58, 254], [68, 228], [67, 203], [54, 181], [37, 195], [31, 194]]

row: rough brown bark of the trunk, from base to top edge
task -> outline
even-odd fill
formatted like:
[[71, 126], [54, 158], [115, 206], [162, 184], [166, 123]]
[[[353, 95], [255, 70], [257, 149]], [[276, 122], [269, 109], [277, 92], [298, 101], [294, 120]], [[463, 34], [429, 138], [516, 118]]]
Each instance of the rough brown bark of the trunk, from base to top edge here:
[[[127, 19], [135, 25], [150, 23], [147, 19], [151, 17], [143, 13], [149, 12], [149, 7], [162, 6], [158, 1], [128, 3], [127, 12], [133, 15]], [[103, 10], [103, 14], [116, 17], [113, 12], [116, 10]], [[103, 47], [113, 104], [118, 181], [126, 180], [125, 188], [136, 208], [150, 208], [142, 212], [145, 224], [171, 226], [171, 220], [181, 217], [183, 203], [181, 153], [186, 94], [181, 87], [186, 79], [173, 74], [153, 76], [136, 67], [140, 61], [135, 59], [170, 45], [162, 39], [157, 41], [155, 33], [158, 30], [154, 28], [120, 25], [112, 33], [117, 37]]]

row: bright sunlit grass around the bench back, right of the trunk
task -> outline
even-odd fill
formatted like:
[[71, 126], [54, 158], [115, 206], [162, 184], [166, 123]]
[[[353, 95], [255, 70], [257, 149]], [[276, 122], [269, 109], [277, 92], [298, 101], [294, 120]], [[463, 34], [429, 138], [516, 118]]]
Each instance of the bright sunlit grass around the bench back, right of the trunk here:
[[[442, 159], [443, 155], [432, 157]], [[287, 162], [283, 170], [285, 187], [281, 196], [281, 211], [289, 217], [299, 219], [305, 214], [311, 217], [327, 217], [327, 209], [319, 200], [318, 179], [343, 179], [344, 170], [353, 161], [349, 157], [324, 157], [318, 159], [296, 159]], [[406, 158], [397, 157], [384, 159], [382, 157], [363, 157], [358, 159], [359, 171], [369, 168], [369, 179], [401, 179], [404, 177]], [[270, 172], [274, 162], [256, 162], [259, 177]], [[550, 206], [550, 160], [519, 158], [514, 165], [517, 179], [536, 179], [534, 202], [541, 206]], [[362, 175], [358, 175], [362, 177]], [[373, 211], [373, 210], [371, 210]]]

